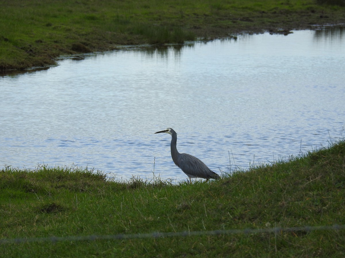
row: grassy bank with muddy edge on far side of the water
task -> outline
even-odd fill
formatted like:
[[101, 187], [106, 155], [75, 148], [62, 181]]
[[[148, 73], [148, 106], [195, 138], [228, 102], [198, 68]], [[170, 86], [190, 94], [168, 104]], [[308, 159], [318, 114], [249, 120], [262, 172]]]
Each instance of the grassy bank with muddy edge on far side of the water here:
[[0, 71], [46, 66], [59, 55], [117, 45], [182, 43], [345, 23], [343, 1], [334, 1], [0, 0]]

